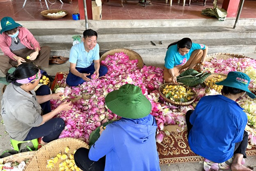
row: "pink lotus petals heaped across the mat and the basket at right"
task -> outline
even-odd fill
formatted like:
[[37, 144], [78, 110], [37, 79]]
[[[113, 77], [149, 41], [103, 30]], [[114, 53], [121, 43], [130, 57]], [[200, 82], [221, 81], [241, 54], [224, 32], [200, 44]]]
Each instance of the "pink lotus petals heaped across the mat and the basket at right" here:
[[[158, 124], [157, 142], [161, 142], [168, 131], [164, 130], [164, 125], [178, 124], [182, 130], [186, 125], [185, 113], [187, 110], [194, 109], [198, 100], [203, 96], [219, 94], [214, 89], [206, 91], [200, 85], [194, 87], [197, 93], [197, 99], [189, 106], [175, 106], [164, 102], [161, 99], [158, 88], [163, 84], [163, 69], [155, 66], [137, 67], [137, 60], [129, 60], [129, 57], [123, 52], [108, 55], [102, 65], [108, 68], [107, 74], [98, 79], [92, 79], [84, 82], [77, 87], [66, 87], [64, 96], [66, 100], [72, 100], [73, 108], [66, 112], [60, 112], [57, 117], [64, 119], [66, 126], [59, 138], [74, 137], [84, 138], [89, 142], [90, 133], [98, 126], [107, 121], [115, 121], [119, 116], [112, 113], [105, 106], [105, 97], [107, 93], [119, 89], [123, 84], [129, 83], [139, 86], [142, 93], [152, 104], [151, 114], [155, 117]], [[253, 59], [231, 58], [227, 60], [213, 59], [206, 62], [206, 70], [212, 73], [224, 73], [229, 71], [245, 71], [248, 67], [256, 67], [256, 61]], [[58, 84], [65, 84], [66, 78]], [[83, 96], [91, 95], [91, 98], [85, 100]], [[51, 100], [52, 109], [55, 109], [61, 100]], [[256, 135], [251, 136], [256, 137]]]

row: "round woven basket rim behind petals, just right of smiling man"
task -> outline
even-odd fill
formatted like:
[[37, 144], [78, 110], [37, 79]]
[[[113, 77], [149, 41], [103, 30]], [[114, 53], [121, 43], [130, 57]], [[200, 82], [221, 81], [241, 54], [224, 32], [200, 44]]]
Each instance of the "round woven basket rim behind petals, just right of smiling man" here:
[[112, 49], [112, 50], [109, 50], [109, 51], [105, 52], [103, 55], [101, 55], [100, 62], [105, 60], [107, 55], [114, 55], [115, 53], [119, 53], [119, 52], [124, 52], [126, 55], [129, 56], [130, 60], [138, 59], [137, 66], [139, 68], [142, 68], [142, 66], [143, 66], [142, 57], [137, 52], [135, 52], [134, 50], [127, 49], [127, 48], [117, 48], [117, 49]]

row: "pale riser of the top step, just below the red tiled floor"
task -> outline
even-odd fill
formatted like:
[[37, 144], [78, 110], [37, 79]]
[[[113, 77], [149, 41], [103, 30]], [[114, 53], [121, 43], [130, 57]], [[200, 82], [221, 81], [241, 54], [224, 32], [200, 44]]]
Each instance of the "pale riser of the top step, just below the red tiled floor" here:
[[[19, 21], [27, 29], [71, 28], [85, 30], [85, 20], [78, 21]], [[170, 19], [170, 20], [91, 20], [89, 28], [132, 28], [132, 27], [201, 27], [201, 26], [232, 26], [235, 18], [218, 21], [217, 18], [206, 19]], [[240, 18], [238, 25], [256, 25], [256, 18]]]

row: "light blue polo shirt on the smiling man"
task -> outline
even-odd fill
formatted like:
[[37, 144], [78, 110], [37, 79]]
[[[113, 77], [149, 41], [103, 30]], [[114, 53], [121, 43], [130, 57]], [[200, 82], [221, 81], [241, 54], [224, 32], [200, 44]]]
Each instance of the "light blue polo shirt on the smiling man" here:
[[85, 51], [84, 42], [75, 44], [72, 46], [69, 54], [69, 62], [76, 64], [75, 67], [78, 68], [87, 68], [94, 60], [98, 59], [100, 59], [100, 47], [98, 43], [89, 52]]

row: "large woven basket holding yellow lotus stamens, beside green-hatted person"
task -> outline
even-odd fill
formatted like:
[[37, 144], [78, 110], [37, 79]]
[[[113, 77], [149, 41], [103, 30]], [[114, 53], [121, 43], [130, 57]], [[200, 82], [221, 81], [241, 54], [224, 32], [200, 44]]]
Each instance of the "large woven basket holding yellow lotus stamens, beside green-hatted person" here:
[[[84, 141], [75, 138], [62, 138], [54, 140], [44, 146], [42, 146], [37, 152], [34, 154], [32, 158], [27, 162], [24, 171], [47, 171], [46, 165], [47, 160], [52, 157], [56, 157], [56, 155], [65, 150], [66, 147], [69, 147], [70, 151], [73, 154], [74, 150], [77, 150], [80, 147], [88, 148], [88, 144]], [[61, 161], [58, 160], [55, 163], [55, 167], [50, 171], [59, 171], [59, 163]]]

